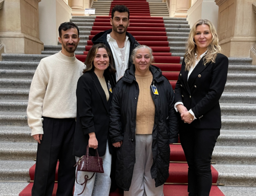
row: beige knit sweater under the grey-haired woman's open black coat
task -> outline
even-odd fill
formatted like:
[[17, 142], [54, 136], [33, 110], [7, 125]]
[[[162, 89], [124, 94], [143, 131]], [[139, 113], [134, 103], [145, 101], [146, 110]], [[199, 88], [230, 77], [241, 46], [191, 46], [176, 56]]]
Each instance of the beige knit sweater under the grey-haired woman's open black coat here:
[[136, 114], [136, 134], [152, 134], [155, 120], [155, 103], [151, 95], [151, 83], [153, 80], [150, 75], [135, 75], [139, 84], [139, 98]]

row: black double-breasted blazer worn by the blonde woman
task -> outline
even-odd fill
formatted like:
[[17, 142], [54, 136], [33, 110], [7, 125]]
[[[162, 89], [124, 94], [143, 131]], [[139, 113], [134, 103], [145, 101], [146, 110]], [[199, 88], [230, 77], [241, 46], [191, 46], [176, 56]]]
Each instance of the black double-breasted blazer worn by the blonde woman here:
[[[189, 111], [194, 112], [196, 120], [191, 124], [180, 119], [180, 128], [221, 128], [221, 109], [219, 99], [227, 81], [228, 58], [218, 54], [215, 63], [204, 65], [204, 57], [190, 74], [185, 71], [183, 59], [180, 75], [175, 87], [175, 103], [183, 102]], [[179, 115], [180, 116], [180, 115]]]

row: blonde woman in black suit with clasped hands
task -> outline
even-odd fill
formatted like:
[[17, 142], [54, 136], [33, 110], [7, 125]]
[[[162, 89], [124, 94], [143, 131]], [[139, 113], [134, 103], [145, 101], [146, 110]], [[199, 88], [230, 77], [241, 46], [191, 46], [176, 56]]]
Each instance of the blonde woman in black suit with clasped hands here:
[[220, 135], [219, 99], [227, 80], [228, 58], [220, 53], [214, 25], [200, 19], [192, 27], [175, 88], [180, 141], [188, 163], [189, 196], [208, 196], [210, 161]]

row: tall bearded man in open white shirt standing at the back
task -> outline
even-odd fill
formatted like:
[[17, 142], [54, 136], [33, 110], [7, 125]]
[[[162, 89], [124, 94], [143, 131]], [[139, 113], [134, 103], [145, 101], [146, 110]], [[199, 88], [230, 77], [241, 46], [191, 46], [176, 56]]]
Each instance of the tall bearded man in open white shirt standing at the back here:
[[131, 67], [130, 56], [133, 49], [140, 44], [128, 32], [130, 11], [124, 5], [116, 5], [112, 9], [110, 24], [112, 29], [100, 32], [92, 38], [92, 42], [104, 43], [112, 53], [114, 58], [114, 68], [116, 69], [116, 81], [124, 74], [124, 71]]

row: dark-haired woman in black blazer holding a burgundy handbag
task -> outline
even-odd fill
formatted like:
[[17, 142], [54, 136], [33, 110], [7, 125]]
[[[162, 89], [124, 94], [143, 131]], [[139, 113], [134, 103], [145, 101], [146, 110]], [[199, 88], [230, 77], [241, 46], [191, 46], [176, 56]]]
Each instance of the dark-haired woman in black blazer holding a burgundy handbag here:
[[90, 147], [90, 155], [95, 156], [98, 149], [99, 156], [103, 160], [104, 173], [78, 171], [77, 181], [84, 182], [84, 176], [93, 176], [84, 185], [75, 183], [74, 195], [83, 191], [81, 195], [108, 196], [111, 179], [111, 154], [113, 146], [109, 140], [109, 108], [112, 101], [112, 89], [115, 85], [110, 50], [103, 44], [94, 45], [86, 58], [86, 69], [77, 82], [77, 118], [74, 139], [73, 155], [78, 160], [86, 155], [87, 145]]

